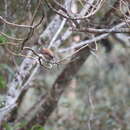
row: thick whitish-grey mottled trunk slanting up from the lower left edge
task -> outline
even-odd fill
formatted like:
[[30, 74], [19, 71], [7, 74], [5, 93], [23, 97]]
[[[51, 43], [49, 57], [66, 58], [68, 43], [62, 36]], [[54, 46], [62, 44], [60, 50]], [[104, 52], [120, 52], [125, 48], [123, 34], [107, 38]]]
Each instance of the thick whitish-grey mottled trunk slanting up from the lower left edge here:
[[[53, 18], [52, 22], [48, 25], [46, 30], [40, 36], [40, 39], [42, 39], [41, 43], [42, 43], [42, 41], [46, 41], [46, 39], [48, 41], [49, 39], [52, 38], [52, 36], [58, 30], [61, 22], [62, 21], [59, 16], [56, 16]], [[51, 31], [52, 28], [53, 28], [54, 32]], [[34, 47], [34, 50], [35, 49], [37, 50], [36, 47]], [[32, 55], [32, 52], [29, 52], [27, 57], [31, 56], [31, 55]], [[14, 107], [10, 107], [10, 106], [12, 106], [13, 104], [16, 104], [16, 101], [18, 100], [19, 95], [23, 91], [23, 86], [28, 81], [28, 79], [30, 77], [30, 72], [32, 72], [33, 69], [35, 69], [36, 64], [37, 64], [36, 60], [30, 59], [30, 58], [25, 58], [23, 60], [22, 64], [20, 65], [18, 72], [15, 74], [14, 79], [12, 80], [12, 82], [10, 82], [8, 84], [9, 90], [6, 94], [7, 95], [6, 101], [5, 101], [6, 104], [5, 104], [5, 107], [2, 108], [2, 111], [0, 111], [0, 125], [4, 120], [6, 120], [5, 117], [9, 114], [9, 112], [11, 112], [14, 109]], [[15, 105], [13, 105], [13, 106], [15, 106]], [[4, 111], [4, 109], [6, 109], [7, 107], [10, 108], [10, 110]]]

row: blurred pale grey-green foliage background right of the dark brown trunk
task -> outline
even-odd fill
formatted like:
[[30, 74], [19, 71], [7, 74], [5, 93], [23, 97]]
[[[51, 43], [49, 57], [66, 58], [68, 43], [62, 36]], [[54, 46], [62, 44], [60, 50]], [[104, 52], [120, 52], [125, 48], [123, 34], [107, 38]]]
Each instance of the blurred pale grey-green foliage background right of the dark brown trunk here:
[[130, 129], [130, 51], [114, 44], [110, 54], [99, 46], [96, 57], [89, 57], [60, 99], [47, 130]]

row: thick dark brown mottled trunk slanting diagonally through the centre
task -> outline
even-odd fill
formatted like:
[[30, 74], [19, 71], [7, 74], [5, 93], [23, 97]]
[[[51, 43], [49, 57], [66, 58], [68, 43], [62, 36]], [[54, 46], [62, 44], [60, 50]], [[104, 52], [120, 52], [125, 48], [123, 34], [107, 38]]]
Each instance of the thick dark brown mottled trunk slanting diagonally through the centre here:
[[27, 126], [28, 128], [36, 124], [36, 122], [44, 126], [45, 122], [47, 121], [49, 116], [52, 114], [54, 109], [56, 108], [60, 96], [62, 95], [64, 90], [67, 88], [72, 78], [79, 71], [83, 63], [86, 61], [89, 54], [90, 54], [89, 48], [86, 47], [74, 56], [74, 57], [79, 57], [79, 58], [75, 60], [74, 62], [70, 62], [65, 67], [62, 73], [56, 79], [55, 83], [53, 84], [53, 87], [51, 88], [47, 96], [45, 98], [41, 98], [38, 105], [41, 107], [41, 109], [40, 111], [37, 111], [36, 116], [32, 120], [29, 121], [29, 124]]

